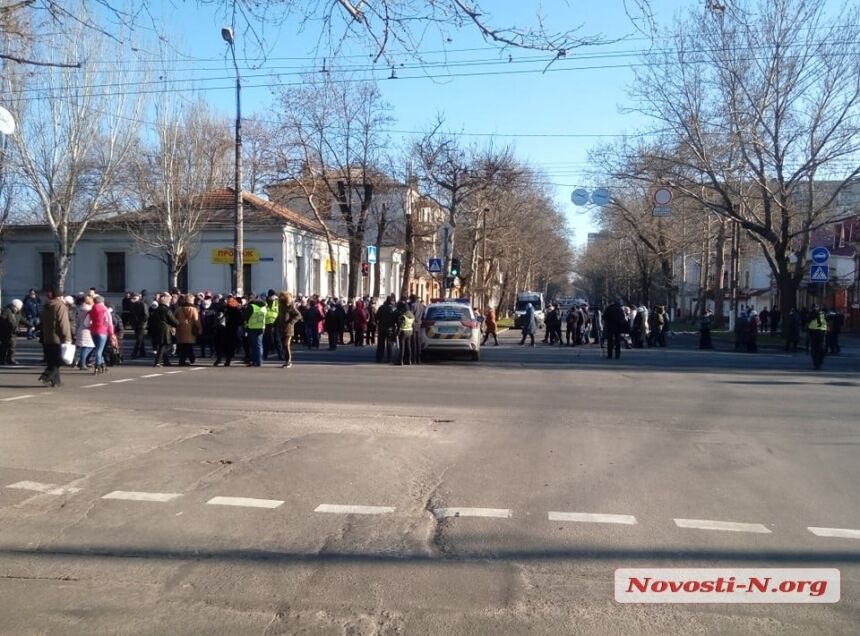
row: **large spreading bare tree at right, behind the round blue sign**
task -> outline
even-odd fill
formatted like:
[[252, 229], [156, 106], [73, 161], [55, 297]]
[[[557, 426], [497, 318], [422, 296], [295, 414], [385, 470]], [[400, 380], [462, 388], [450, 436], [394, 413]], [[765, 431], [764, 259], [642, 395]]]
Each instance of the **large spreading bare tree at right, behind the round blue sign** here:
[[665, 135], [660, 149], [672, 150], [655, 157], [661, 176], [761, 247], [785, 314], [812, 232], [860, 176], [858, 9], [711, 4], [678, 22], [672, 41], [634, 87]]

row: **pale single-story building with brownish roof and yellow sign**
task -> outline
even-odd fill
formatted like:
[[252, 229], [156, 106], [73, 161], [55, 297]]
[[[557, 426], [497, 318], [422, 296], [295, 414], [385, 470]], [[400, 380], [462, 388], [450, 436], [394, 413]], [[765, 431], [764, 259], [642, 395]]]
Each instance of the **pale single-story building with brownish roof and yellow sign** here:
[[[231, 188], [203, 195], [206, 220], [188, 265], [182, 270], [183, 291], [226, 293], [230, 291], [235, 194]], [[329, 259], [320, 225], [289, 208], [243, 192], [245, 291], [287, 289], [299, 294], [345, 297], [349, 275], [349, 250], [345, 239], [333, 241], [335, 263]], [[128, 222], [129, 215], [124, 215]], [[20, 298], [30, 288], [53, 291], [56, 243], [46, 225], [7, 227], [2, 264], [4, 302]], [[139, 241], [116, 219], [93, 223], [75, 249], [66, 279], [66, 293], [90, 287], [117, 299], [128, 290], [149, 292], [168, 287], [166, 263], [147, 254]], [[401, 251], [378, 251], [381, 265], [381, 294], [397, 293], [401, 282]], [[337, 271], [330, 288], [327, 268]], [[372, 289], [370, 276], [361, 277], [361, 287]]]

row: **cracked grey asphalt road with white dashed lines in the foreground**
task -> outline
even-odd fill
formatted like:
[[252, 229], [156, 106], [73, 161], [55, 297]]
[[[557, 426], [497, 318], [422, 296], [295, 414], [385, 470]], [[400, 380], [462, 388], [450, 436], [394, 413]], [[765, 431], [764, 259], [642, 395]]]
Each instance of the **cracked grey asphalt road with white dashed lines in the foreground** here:
[[[0, 633], [856, 634], [860, 351], [691, 342], [3, 368]], [[620, 604], [620, 567], [838, 568], [841, 600]]]

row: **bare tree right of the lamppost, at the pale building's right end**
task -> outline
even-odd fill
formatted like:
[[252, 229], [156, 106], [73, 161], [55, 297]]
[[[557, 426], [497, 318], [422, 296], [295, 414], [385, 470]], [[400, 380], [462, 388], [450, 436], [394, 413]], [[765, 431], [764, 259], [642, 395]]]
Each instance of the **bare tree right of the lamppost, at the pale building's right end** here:
[[[389, 185], [384, 165], [391, 108], [375, 84], [344, 85], [323, 79], [280, 93], [281, 167], [285, 184], [303, 195], [323, 226], [329, 259], [336, 262], [332, 227], [349, 242], [348, 295], [358, 293], [368, 214], [374, 192]], [[335, 289], [336, 272], [329, 272]]]

